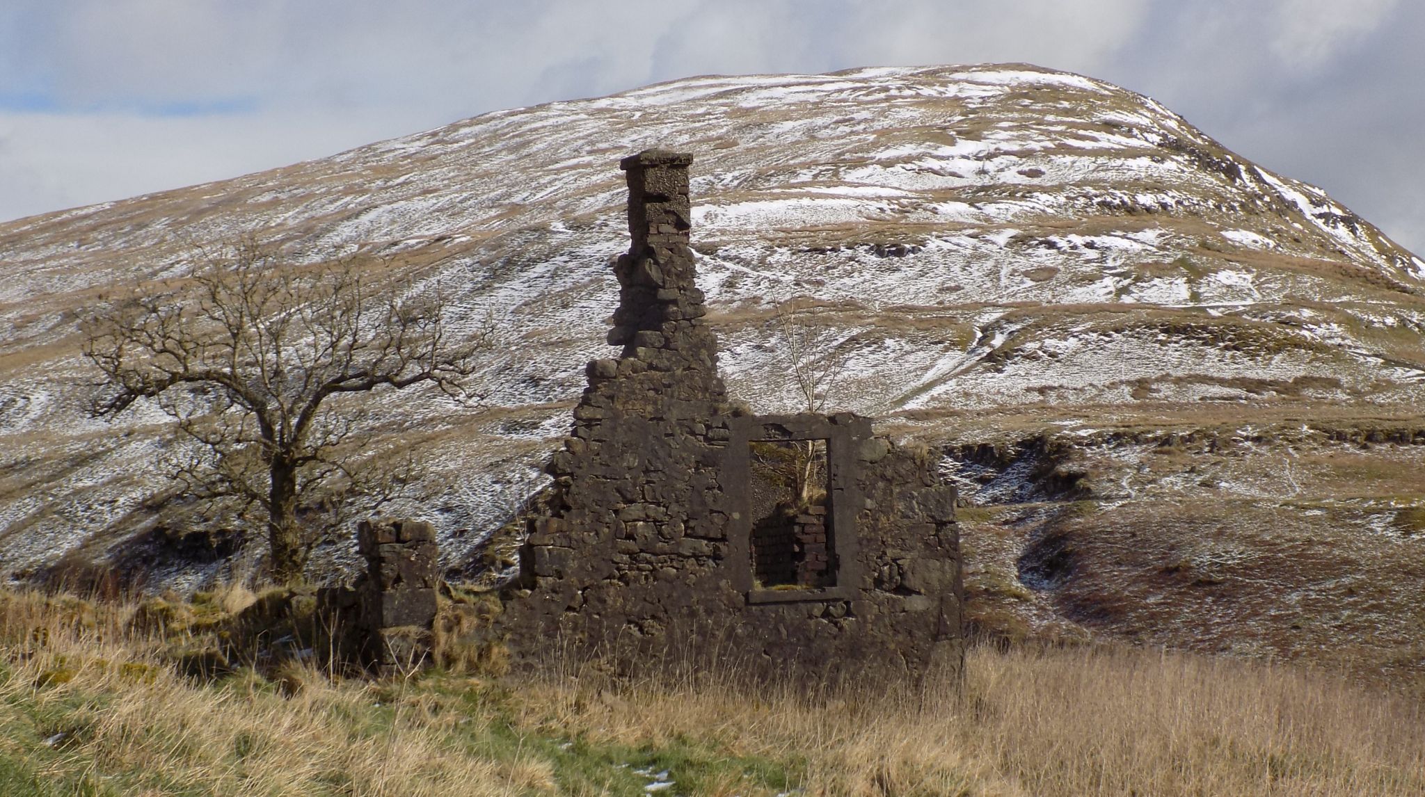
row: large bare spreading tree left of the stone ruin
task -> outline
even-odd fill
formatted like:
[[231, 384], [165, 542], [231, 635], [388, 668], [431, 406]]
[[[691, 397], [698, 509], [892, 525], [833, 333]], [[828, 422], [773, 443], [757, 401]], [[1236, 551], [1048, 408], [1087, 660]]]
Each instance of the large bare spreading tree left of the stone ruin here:
[[195, 444], [171, 475], [259, 518], [274, 578], [296, 578], [352, 500], [365, 495], [369, 511], [410, 475], [409, 461], [363, 464], [361, 394], [430, 383], [470, 398], [490, 324], [456, 337], [439, 296], [403, 296], [409, 285], [352, 260], [299, 266], [251, 242], [198, 260], [161, 293], [130, 293], [86, 320], [84, 354], [104, 377], [91, 411], [155, 400]]

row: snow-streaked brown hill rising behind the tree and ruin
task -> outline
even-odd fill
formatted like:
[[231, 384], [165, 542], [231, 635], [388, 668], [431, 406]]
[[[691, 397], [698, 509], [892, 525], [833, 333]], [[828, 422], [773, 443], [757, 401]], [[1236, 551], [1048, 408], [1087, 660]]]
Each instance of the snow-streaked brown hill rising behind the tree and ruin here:
[[460, 564], [539, 484], [583, 363], [610, 352], [617, 161], [650, 147], [695, 155], [700, 282], [757, 410], [794, 407], [771, 323], [791, 297], [841, 333], [834, 403], [931, 443], [1422, 397], [1425, 262], [1153, 100], [1029, 65], [698, 77], [0, 225], [0, 571], [157, 522], [164, 416], [86, 417], [76, 320], [244, 235], [388, 258], [456, 326], [506, 330], [493, 408], [379, 398], [388, 440], [428, 454], [410, 511]]

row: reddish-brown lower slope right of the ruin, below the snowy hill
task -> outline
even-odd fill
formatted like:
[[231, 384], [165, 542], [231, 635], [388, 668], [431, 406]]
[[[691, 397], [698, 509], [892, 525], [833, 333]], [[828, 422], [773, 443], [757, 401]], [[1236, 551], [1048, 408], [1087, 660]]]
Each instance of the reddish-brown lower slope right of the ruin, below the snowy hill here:
[[1425, 418], [949, 421], [969, 427], [943, 450], [980, 632], [1310, 662], [1425, 695]]

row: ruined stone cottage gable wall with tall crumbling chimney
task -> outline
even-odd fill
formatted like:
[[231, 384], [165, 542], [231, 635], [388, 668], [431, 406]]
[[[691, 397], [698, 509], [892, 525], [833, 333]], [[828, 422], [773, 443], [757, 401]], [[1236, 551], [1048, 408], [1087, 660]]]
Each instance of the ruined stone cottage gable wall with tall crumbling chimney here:
[[[688, 249], [691, 155], [620, 165], [618, 357], [589, 363], [500, 618], [516, 662], [677, 658], [836, 682], [962, 659], [955, 488], [854, 414], [730, 411]], [[651, 658], [651, 659], [650, 659]]]

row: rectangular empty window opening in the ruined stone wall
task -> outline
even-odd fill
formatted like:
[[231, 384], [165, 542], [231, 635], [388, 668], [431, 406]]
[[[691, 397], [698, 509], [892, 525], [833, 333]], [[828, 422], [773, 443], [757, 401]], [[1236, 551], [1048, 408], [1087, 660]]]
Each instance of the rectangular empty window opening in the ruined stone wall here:
[[748, 465], [755, 586], [835, 586], [826, 441], [752, 440]]

